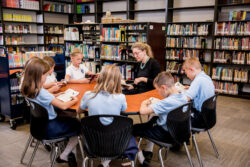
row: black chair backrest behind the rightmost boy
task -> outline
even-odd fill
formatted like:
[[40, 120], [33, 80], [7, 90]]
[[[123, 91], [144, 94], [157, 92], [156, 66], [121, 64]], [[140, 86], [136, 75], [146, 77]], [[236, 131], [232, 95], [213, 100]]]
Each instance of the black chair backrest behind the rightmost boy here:
[[216, 124], [216, 100], [217, 94], [205, 100], [201, 107], [201, 115], [207, 129]]

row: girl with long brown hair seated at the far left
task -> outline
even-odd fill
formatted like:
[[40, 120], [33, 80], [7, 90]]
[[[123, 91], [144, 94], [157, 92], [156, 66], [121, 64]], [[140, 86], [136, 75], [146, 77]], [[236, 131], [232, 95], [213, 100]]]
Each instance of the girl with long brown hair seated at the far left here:
[[77, 135], [80, 133], [80, 123], [75, 118], [58, 117], [54, 106], [61, 110], [66, 110], [77, 103], [78, 99], [73, 97], [72, 101], [62, 102], [56, 99], [48, 90], [44, 89], [43, 84], [49, 74], [49, 70], [49, 65], [40, 58], [33, 58], [29, 63], [26, 63], [21, 93], [30, 101], [38, 103], [47, 110], [49, 122], [46, 135], [48, 138], [69, 137], [69, 142], [63, 153], [57, 158], [57, 162], [68, 162], [68, 157], [70, 157], [70, 159], [73, 159], [71, 166], [72, 164], [76, 166], [74, 154], [71, 152], [78, 143]]

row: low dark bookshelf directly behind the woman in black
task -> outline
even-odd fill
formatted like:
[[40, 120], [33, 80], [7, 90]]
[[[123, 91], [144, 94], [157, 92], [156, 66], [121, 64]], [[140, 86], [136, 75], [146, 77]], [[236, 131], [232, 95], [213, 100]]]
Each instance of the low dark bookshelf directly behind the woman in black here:
[[[155, 59], [162, 70], [164, 62], [164, 23], [105, 23], [101, 24], [101, 64], [116, 63], [122, 72], [123, 79], [134, 79], [134, 69], [137, 66], [132, 56], [131, 46], [140, 41], [149, 44]], [[155, 40], [159, 39], [159, 40]]]

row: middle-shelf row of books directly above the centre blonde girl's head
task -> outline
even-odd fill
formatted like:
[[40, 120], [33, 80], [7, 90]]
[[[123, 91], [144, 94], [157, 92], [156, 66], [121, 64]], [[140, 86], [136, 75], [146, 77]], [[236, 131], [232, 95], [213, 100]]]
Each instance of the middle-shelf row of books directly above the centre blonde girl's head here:
[[127, 60], [128, 51], [122, 45], [105, 45], [101, 46], [101, 58], [107, 60]]

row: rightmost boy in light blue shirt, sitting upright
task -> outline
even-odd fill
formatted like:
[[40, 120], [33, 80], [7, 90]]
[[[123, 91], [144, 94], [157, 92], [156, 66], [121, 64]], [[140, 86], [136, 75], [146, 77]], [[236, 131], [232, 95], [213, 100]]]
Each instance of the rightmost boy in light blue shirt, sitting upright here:
[[202, 127], [201, 107], [206, 99], [214, 95], [214, 84], [212, 79], [201, 70], [201, 63], [196, 57], [188, 58], [183, 64], [183, 70], [187, 77], [192, 80], [190, 87], [184, 93], [188, 101], [194, 101], [191, 117], [192, 126]]

